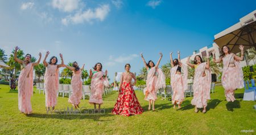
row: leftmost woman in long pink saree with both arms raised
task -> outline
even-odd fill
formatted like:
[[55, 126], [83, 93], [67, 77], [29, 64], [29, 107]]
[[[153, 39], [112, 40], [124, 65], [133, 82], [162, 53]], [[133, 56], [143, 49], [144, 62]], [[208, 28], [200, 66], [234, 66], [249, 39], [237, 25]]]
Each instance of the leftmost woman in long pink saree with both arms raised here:
[[32, 114], [31, 97], [33, 95], [33, 67], [40, 63], [42, 54], [39, 53], [39, 59], [36, 63], [31, 63], [31, 55], [26, 54], [24, 60], [17, 58], [19, 47], [15, 47], [14, 60], [21, 64], [22, 71], [19, 74], [18, 81], [18, 106], [19, 111], [24, 114]]

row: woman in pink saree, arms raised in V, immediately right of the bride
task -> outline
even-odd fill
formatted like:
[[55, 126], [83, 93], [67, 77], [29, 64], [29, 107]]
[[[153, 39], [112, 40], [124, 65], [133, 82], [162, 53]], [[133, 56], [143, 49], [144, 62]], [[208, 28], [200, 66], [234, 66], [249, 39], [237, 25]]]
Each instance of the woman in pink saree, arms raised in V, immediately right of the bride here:
[[156, 65], [152, 60], [149, 60], [146, 63], [142, 53], [141, 58], [143, 60], [144, 66], [147, 68], [147, 82], [146, 88], [144, 88], [145, 100], [148, 101], [148, 110], [151, 109], [151, 102], [152, 102], [152, 111], [155, 111], [155, 100], [158, 99], [156, 97], [156, 92], [158, 89], [166, 88], [166, 77], [164, 76], [162, 70], [158, 68], [160, 60], [163, 57], [162, 53], [160, 54], [160, 58]]

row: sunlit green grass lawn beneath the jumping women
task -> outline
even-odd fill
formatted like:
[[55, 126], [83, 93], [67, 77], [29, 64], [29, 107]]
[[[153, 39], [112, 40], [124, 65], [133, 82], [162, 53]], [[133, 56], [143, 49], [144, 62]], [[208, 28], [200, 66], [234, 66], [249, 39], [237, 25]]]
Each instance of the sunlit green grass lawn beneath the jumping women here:
[[[24, 115], [18, 110], [18, 93], [8, 85], [0, 85], [0, 134], [255, 134], [255, 101], [242, 101], [243, 89], [236, 91], [237, 101], [226, 102], [224, 89], [216, 86], [210, 94], [207, 113], [194, 112], [191, 97], [185, 98], [180, 110], [172, 108], [171, 101], [158, 99], [156, 110], [147, 111], [142, 91], [137, 97], [144, 109], [136, 116], [111, 114], [117, 93], [104, 96], [105, 114], [60, 115], [47, 114], [45, 95], [35, 90], [32, 97], [33, 114]], [[72, 107], [67, 97], [59, 97], [56, 109]], [[88, 99], [80, 107], [93, 108]], [[254, 130], [242, 133], [241, 130]]]

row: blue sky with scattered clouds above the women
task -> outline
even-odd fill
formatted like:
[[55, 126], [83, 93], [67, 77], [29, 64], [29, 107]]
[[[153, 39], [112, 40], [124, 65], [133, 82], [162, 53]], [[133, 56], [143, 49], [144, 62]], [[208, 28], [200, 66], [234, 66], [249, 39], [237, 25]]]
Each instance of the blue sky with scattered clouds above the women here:
[[[139, 73], [146, 60], [170, 61], [213, 43], [214, 34], [254, 11], [256, 1], [48, 0], [0, 1], [0, 47], [38, 57], [62, 53], [65, 63], [101, 62], [111, 81], [126, 63]], [[174, 57], [176, 57], [176, 53]]]

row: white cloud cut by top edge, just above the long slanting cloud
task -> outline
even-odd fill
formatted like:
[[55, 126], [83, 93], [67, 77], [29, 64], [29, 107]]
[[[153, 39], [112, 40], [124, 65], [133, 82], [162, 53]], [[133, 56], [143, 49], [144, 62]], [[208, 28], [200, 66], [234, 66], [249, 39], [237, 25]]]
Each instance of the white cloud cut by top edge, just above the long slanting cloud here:
[[52, 7], [64, 12], [72, 12], [79, 8], [80, 0], [52, 0]]

